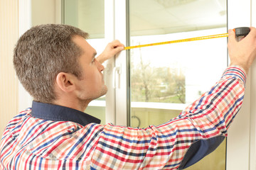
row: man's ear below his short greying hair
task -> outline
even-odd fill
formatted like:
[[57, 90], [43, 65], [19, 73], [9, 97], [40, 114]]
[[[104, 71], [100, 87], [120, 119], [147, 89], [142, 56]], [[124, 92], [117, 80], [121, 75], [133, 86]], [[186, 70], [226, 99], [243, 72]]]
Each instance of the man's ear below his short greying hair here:
[[65, 92], [71, 92], [75, 90], [75, 80], [72, 74], [65, 72], [58, 73], [56, 77], [56, 85], [59, 89]]

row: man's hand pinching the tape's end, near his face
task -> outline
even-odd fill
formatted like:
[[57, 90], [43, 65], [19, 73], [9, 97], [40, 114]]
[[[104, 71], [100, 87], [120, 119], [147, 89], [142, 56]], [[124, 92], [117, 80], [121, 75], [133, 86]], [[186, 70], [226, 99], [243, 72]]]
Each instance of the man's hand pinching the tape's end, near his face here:
[[117, 53], [121, 52], [122, 50], [124, 50], [124, 45], [119, 42], [119, 40], [113, 40], [107, 45], [102, 54], [97, 57], [97, 60], [100, 63], [103, 63], [111, 57], [114, 57], [114, 55], [117, 55]]

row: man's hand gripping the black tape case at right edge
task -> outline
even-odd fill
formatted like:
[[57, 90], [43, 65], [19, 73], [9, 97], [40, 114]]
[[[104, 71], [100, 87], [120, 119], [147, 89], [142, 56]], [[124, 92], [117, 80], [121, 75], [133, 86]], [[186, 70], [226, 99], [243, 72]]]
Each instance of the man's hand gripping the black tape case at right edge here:
[[256, 28], [251, 27], [250, 33], [239, 42], [235, 40], [235, 32], [228, 30], [228, 53], [230, 65], [239, 65], [247, 74], [256, 57]]

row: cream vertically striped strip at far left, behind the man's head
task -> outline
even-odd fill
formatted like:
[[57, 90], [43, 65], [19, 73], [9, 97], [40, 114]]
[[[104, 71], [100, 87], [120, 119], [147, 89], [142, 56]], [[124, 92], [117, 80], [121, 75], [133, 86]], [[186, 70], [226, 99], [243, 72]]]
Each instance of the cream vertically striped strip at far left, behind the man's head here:
[[18, 79], [13, 67], [18, 39], [18, 0], [0, 0], [0, 134], [18, 112]]

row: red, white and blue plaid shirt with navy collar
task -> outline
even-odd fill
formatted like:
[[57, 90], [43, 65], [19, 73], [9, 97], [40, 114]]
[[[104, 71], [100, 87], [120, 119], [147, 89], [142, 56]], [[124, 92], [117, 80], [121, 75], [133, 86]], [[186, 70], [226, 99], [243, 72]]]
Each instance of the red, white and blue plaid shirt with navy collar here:
[[228, 67], [177, 118], [144, 129], [100, 125], [85, 113], [34, 102], [6, 126], [0, 169], [186, 168], [227, 136], [242, 104], [245, 79], [240, 67]]

